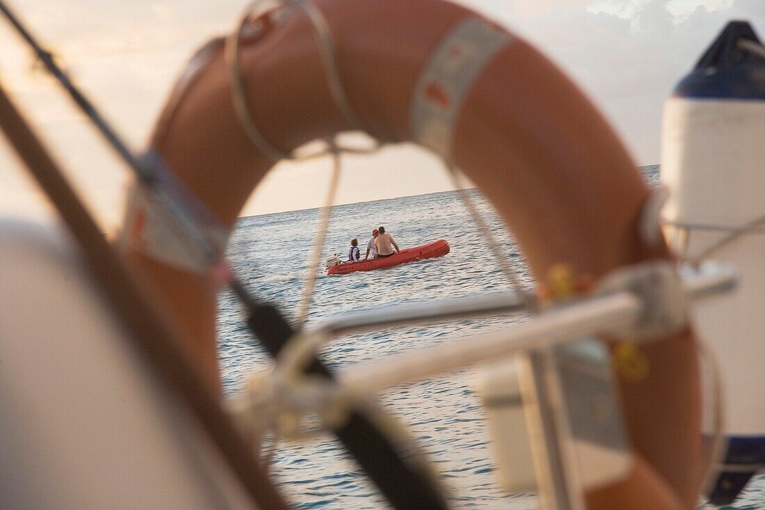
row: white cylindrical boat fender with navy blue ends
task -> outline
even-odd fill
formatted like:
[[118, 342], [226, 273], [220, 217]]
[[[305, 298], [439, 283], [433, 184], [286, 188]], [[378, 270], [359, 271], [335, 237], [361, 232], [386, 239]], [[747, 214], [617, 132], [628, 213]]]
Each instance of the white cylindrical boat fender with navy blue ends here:
[[[695, 306], [718, 358], [728, 448], [709, 498], [727, 505], [765, 467], [765, 51], [731, 21], [666, 101], [662, 182], [671, 191], [665, 232], [688, 260], [734, 263], [734, 295]], [[744, 228], [745, 227], [745, 228]], [[738, 235], [732, 235], [742, 230]]]

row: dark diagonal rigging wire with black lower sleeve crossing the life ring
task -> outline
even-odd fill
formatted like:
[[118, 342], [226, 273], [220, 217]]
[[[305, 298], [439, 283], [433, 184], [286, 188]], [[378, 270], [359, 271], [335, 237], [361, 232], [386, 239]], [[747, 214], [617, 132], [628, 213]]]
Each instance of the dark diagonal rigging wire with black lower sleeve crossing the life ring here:
[[[127, 145], [116, 134], [106, 120], [96, 111], [86, 97], [77, 90], [77, 87], [67, 77], [67, 74], [57, 66], [50, 52], [45, 51], [31, 34], [21, 25], [18, 18], [0, 2], [0, 8], [11, 20], [11, 23], [21, 33], [22, 37], [34, 50], [34, 53], [45, 64], [59, 83], [69, 92], [77, 106], [82, 109], [90, 120], [96, 125], [99, 132], [106, 138], [109, 145], [118, 152], [135, 173], [138, 181], [155, 195], [157, 201], [166, 208], [172, 221], [171, 227], [181, 230], [179, 234], [190, 243], [189, 248], [200, 252], [203, 260], [210, 267], [211, 273], [216, 275], [222, 285], [227, 285], [234, 295], [242, 302], [249, 314], [247, 324], [250, 331], [271, 352], [276, 355], [278, 351], [289, 342], [294, 335], [294, 329], [285, 321], [281, 313], [273, 306], [263, 304], [253, 299], [243, 283], [236, 278], [231, 268], [223, 258], [223, 246], [216, 244], [205, 230], [203, 220], [208, 224], [220, 224], [209, 208], [200, 201], [194, 200], [192, 195], [184, 195], [180, 181], [174, 178], [160, 155], [150, 154], [146, 159], [138, 159], [128, 149]], [[370, 149], [349, 149], [345, 152], [367, 153], [373, 152], [379, 145]], [[316, 362], [312, 368], [329, 377], [330, 373]], [[403, 458], [398, 453], [396, 444], [392, 443], [373, 421], [366, 419], [359, 412], [353, 412], [345, 426], [336, 430], [337, 437], [353, 453], [356, 460], [376, 483], [386, 499], [394, 508], [411, 508], [412, 505], [427, 506], [428, 508], [446, 508], [446, 503], [438, 483], [424, 476], [422, 468], [412, 462], [412, 458]], [[370, 447], [371, 446], [371, 447]], [[278, 508], [279, 505], [266, 505], [265, 508]]]

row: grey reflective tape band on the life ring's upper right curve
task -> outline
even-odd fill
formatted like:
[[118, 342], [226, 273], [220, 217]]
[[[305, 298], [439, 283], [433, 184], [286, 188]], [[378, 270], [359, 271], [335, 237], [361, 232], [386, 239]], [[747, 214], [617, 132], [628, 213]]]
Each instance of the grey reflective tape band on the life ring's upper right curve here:
[[422, 71], [410, 110], [412, 139], [451, 158], [454, 125], [480, 71], [512, 37], [482, 18], [467, 18], [448, 34]]

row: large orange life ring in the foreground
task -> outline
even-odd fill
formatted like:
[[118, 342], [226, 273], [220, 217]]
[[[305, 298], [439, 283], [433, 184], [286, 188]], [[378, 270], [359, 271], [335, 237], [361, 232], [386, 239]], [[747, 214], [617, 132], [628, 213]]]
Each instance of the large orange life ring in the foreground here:
[[[525, 41], [441, 0], [314, 5], [334, 36], [343, 87], [369, 133], [448, 152], [513, 229], [536, 276], [566, 263], [582, 280], [594, 280], [625, 264], [670, 257], [663, 244], [640, 236], [649, 190], [617, 136]], [[307, 18], [295, 11], [261, 21], [268, 22], [240, 50], [260, 131], [286, 152], [347, 129]], [[478, 42], [450, 46], [466, 24], [484, 31]], [[481, 42], [484, 35], [488, 42]], [[196, 60], [151, 144], [231, 228], [272, 161], [253, 148], [237, 119], [222, 44]], [[158, 260], [141, 248], [135, 208], [128, 221], [126, 230], [137, 232], [129, 256], [195, 339], [216, 381], [213, 277]], [[635, 468], [624, 482], [588, 493], [588, 508], [695, 508], [702, 479], [695, 342], [686, 332], [641, 349], [648, 373], [620, 378]]]

